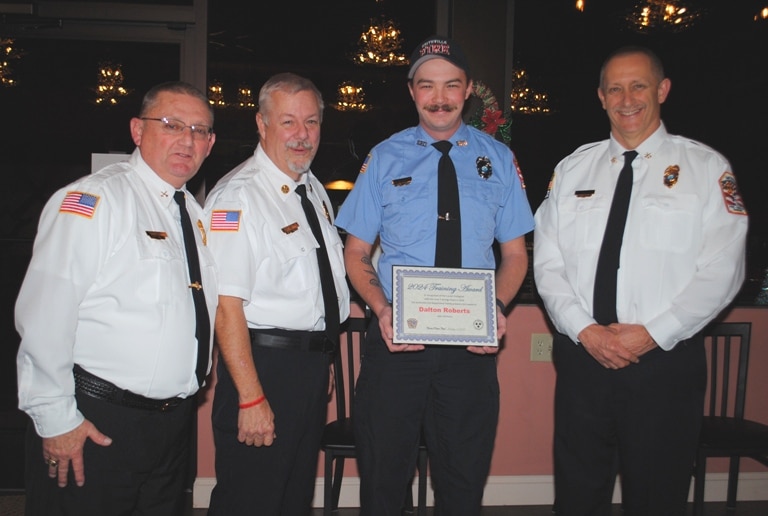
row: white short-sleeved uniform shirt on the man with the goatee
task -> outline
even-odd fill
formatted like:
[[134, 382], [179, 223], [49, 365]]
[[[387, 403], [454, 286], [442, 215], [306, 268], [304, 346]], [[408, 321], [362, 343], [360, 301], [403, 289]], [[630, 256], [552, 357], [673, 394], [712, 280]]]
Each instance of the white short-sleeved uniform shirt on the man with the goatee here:
[[[320, 220], [344, 321], [349, 288], [331, 203], [311, 172], [301, 181]], [[297, 184], [259, 145], [217, 183], [205, 202], [210, 249], [220, 271], [219, 293], [245, 300], [249, 328], [325, 329], [319, 244], [295, 192]]]

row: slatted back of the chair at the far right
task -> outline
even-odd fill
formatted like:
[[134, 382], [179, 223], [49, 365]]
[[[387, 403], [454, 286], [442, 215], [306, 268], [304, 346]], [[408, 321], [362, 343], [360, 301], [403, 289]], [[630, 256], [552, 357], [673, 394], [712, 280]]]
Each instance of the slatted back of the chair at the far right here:
[[707, 350], [705, 416], [744, 419], [752, 324], [714, 323], [700, 333]]

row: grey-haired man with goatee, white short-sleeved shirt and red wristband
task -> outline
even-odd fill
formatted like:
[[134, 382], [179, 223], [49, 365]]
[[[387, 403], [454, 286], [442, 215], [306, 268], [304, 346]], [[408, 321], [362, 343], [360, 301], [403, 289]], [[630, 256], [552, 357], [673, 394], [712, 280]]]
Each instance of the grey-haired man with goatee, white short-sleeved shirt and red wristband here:
[[[322, 116], [312, 82], [289, 73], [270, 78], [259, 93], [254, 155], [206, 200], [221, 274], [209, 516], [311, 511], [328, 371], [339, 321], [349, 315], [331, 203], [309, 169]], [[304, 208], [299, 192], [309, 201]], [[335, 292], [328, 294], [329, 283]]]

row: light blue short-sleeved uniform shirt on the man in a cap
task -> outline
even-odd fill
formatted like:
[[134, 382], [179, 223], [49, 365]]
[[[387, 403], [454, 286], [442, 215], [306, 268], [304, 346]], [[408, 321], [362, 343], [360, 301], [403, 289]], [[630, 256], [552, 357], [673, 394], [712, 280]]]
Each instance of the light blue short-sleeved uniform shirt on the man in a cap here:
[[[392, 300], [392, 266], [431, 267], [437, 234], [440, 152], [420, 126], [392, 135], [371, 150], [336, 225], [373, 244], [380, 237], [379, 281]], [[494, 269], [494, 240], [533, 230], [533, 215], [514, 155], [507, 146], [464, 124], [450, 142], [461, 203], [462, 266]], [[491, 175], [478, 172], [487, 158]]]

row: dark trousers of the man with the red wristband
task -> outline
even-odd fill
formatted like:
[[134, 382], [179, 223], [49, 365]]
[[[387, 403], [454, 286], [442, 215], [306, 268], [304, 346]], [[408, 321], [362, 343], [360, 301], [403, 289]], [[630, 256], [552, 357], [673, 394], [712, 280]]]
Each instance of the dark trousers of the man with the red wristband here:
[[275, 415], [271, 446], [237, 440], [239, 398], [219, 359], [213, 399], [216, 486], [209, 516], [307, 516], [328, 415], [332, 355], [251, 345], [259, 381]]

